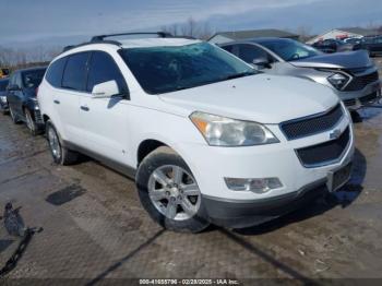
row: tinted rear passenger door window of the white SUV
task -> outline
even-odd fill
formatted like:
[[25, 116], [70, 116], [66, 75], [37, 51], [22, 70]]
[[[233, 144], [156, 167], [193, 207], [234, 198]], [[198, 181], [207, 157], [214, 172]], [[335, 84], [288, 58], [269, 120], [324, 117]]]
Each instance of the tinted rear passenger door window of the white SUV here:
[[62, 78], [62, 87], [85, 91], [88, 52], [74, 53], [68, 58]]

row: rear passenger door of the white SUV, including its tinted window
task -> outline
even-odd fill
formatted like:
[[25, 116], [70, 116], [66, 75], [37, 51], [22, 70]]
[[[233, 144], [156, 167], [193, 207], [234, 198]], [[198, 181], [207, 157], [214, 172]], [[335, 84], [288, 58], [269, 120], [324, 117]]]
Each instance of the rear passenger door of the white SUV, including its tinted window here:
[[79, 118], [80, 96], [85, 93], [87, 60], [91, 52], [79, 52], [68, 57], [63, 70], [61, 90], [55, 92], [53, 105], [59, 115], [64, 136], [76, 143], [81, 136]]

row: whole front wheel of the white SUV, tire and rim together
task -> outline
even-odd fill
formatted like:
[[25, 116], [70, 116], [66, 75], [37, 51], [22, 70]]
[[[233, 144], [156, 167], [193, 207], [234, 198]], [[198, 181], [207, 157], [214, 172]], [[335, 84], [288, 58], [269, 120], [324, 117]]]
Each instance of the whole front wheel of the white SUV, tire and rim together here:
[[210, 225], [190, 168], [169, 147], [158, 147], [143, 159], [135, 184], [143, 207], [164, 228], [200, 233]]

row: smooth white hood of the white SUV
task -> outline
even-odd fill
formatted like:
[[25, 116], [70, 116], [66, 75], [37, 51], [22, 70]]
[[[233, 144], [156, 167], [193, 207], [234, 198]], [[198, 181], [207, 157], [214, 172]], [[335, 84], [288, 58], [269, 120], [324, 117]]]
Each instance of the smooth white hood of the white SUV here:
[[159, 96], [167, 104], [261, 123], [319, 114], [333, 107], [337, 96], [331, 88], [307, 80], [256, 74], [203, 85]]

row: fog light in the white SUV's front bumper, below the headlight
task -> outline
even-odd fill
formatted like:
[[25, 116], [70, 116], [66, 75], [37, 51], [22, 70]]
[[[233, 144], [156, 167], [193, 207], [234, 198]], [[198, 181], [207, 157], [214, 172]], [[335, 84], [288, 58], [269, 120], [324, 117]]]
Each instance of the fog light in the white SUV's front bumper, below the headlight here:
[[278, 189], [283, 187], [278, 178], [224, 178], [224, 180], [226, 181], [228, 189], [234, 191], [252, 191], [255, 193], [265, 193], [273, 189]]

